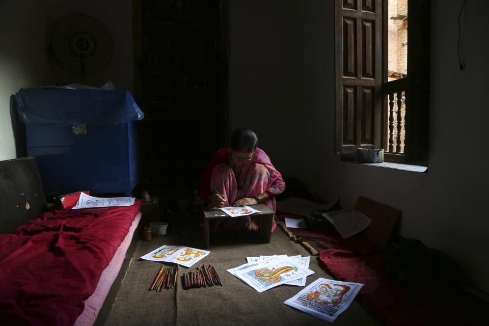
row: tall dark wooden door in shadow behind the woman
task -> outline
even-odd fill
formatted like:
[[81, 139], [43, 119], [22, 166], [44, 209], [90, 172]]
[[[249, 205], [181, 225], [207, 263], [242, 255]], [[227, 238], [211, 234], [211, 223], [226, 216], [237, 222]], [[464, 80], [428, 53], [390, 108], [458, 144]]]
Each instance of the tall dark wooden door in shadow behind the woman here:
[[144, 0], [139, 5], [135, 88], [145, 113], [143, 176], [150, 188], [173, 185], [186, 191], [195, 186], [211, 154], [227, 145], [226, 3]]

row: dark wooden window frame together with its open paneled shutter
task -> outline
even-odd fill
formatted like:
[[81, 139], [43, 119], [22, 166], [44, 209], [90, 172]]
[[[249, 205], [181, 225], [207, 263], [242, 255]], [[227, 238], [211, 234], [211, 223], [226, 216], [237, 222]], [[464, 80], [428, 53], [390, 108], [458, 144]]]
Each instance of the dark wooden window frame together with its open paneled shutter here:
[[[335, 152], [342, 154], [342, 157], [351, 159], [357, 148], [388, 149], [388, 94], [404, 91], [405, 151], [403, 154], [386, 153], [384, 159], [427, 165], [430, 1], [410, 0], [408, 15], [408, 77], [388, 82], [388, 34], [387, 28], [384, 28], [389, 19], [387, 1], [335, 0]], [[370, 44], [370, 47], [367, 44], [372, 40], [366, 40], [364, 31], [367, 25], [375, 25], [375, 45]], [[355, 39], [348, 39], [348, 35], [355, 35]], [[343, 55], [344, 50], [349, 51], [347, 56]], [[373, 55], [374, 58], [371, 58]], [[373, 60], [373, 83], [372, 78], [364, 76], [362, 65], [368, 61], [364, 57]], [[373, 103], [371, 107], [362, 101], [367, 93], [374, 96], [370, 99], [370, 103]], [[370, 125], [365, 116], [372, 118]]]

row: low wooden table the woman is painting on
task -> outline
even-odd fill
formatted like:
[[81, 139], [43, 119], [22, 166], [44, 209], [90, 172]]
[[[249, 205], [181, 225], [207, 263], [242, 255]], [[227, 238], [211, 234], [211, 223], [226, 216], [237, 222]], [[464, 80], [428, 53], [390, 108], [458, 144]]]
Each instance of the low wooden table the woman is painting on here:
[[[270, 243], [271, 225], [274, 220], [274, 212], [264, 204], [251, 205], [250, 207], [260, 211], [259, 213], [253, 214], [254, 216], [258, 216], [258, 234], [263, 243]], [[202, 207], [202, 211], [204, 212], [204, 241], [206, 249], [209, 249], [209, 220], [239, 219], [239, 217], [232, 218], [219, 208], [215, 207]]]

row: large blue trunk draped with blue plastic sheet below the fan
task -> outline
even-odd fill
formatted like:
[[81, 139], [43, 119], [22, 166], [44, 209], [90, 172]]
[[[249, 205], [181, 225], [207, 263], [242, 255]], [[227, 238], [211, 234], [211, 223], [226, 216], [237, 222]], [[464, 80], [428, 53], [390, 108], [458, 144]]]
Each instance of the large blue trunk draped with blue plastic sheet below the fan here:
[[144, 115], [129, 92], [21, 90], [15, 99], [46, 195], [131, 195], [140, 179], [134, 120]]

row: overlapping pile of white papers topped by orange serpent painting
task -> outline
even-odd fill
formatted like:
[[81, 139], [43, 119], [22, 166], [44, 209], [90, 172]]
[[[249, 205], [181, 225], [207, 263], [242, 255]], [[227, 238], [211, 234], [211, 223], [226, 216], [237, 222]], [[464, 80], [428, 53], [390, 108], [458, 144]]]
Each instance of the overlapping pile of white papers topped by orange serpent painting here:
[[258, 292], [282, 284], [305, 286], [306, 277], [314, 274], [314, 271], [309, 269], [309, 256], [275, 255], [248, 257], [247, 260], [247, 264], [228, 271]]

